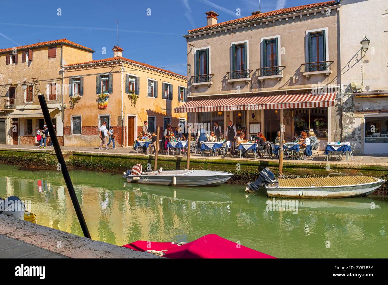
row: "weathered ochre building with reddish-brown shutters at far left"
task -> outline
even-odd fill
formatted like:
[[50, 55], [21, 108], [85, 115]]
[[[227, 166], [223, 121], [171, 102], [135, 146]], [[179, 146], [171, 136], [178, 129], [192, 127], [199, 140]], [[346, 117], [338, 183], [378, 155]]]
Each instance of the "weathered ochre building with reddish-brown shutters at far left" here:
[[36, 128], [45, 124], [38, 94], [46, 95], [62, 143], [61, 66], [92, 60], [93, 52], [66, 39], [0, 49], [0, 143], [36, 143]]

